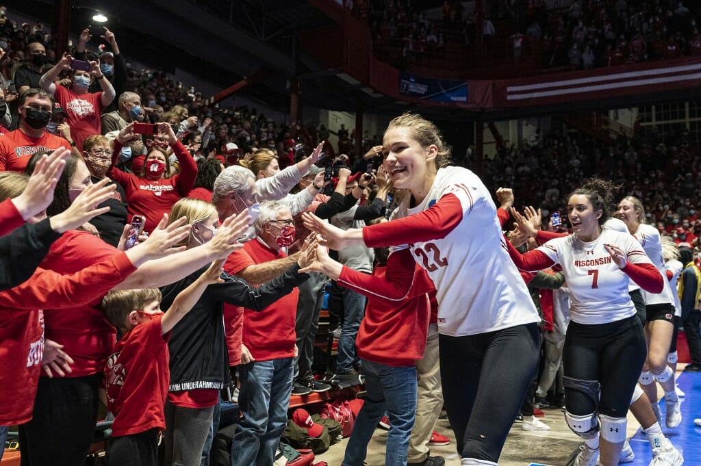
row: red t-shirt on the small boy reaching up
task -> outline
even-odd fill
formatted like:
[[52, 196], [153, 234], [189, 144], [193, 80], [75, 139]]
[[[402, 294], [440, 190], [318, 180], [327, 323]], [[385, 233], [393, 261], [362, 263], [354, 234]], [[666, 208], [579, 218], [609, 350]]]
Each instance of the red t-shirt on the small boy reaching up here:
[[168, 338], [161, 316], [131, 329], [114, 346], [104, 366], [107, 409], [114, 414], [112, 436], [165, 430], [163, 406], [168, 395]]

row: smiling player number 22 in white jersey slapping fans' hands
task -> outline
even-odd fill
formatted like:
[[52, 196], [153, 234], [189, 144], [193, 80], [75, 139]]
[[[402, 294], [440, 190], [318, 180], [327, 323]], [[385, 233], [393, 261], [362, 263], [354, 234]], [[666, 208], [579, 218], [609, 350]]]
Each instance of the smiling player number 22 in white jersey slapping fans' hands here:
[[305, 225], [332, 249], [408, 247], [426, 269], [461, 465], [496, 465], [538, 362], [538, 313], [505, 250], [491, 193], [470, 170], [444, 166], [450, 149], [436, 126], [413, 114], [395, 118], [383, 153], [395, 189], [407, 190], [392, 220], [343, 231], [304, 214]]

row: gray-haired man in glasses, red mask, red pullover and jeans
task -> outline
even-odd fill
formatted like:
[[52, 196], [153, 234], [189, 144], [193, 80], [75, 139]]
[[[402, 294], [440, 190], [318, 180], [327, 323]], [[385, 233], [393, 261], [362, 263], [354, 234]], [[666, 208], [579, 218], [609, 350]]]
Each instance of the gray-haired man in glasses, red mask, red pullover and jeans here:
[[[261, 204], [254, 223], [257, 238], [247, 241], [243, 250], [254, 263], [265, 263], [287, 256], [294, 242], [294, 220], [283, 203]], [[243, 418], [236, 427], [231, 457], [241, 465], [270, 465], [287, 423], [292, 394], [294, 356], [294, 317], [299, 290], [276, 301], [260, 312], [245, 309], [243, 343], [253, 361], [239, 366], [240, 403]], [[271, 338], [274, 335], [275, 338]]]

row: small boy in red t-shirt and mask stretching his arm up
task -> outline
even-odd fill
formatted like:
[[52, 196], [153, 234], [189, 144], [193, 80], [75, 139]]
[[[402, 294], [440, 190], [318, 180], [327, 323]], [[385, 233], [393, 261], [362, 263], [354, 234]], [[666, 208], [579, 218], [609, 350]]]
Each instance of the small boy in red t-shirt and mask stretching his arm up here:
[[156, 466], [170, 381], [170, 331], [208, 285], [222, 282], [223, 263], [213, 262], [178, 294], [165, 314], [160, 309], [158, 289], [109, 292], [102, 300], [107, 320], [124, 334], [107, 359], [100, 393], [115, 416], [108, 448], [110, 466]]

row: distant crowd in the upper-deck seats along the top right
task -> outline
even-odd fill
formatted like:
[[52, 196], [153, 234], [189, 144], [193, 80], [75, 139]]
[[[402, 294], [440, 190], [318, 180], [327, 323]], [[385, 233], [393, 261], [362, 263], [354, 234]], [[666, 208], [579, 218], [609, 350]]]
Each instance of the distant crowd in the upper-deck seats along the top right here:
[[440, 57], [448, 43], [470, 46], [482, 34], [495, 48], [495, 23], [508, 29], [515, 60], [528, 43], [541, 68], [590, 69], [701, 55], [701, 6], [678, 0], [573, 0], [547, 8], [544, 0], [485, 2], [482, 31], [461, 1], [444, 1], [441, 20], [428, 20], [410, 1], [348, 2], [366, 20], [375, 50], [401, 48], [400, 67], [422, 55]]

